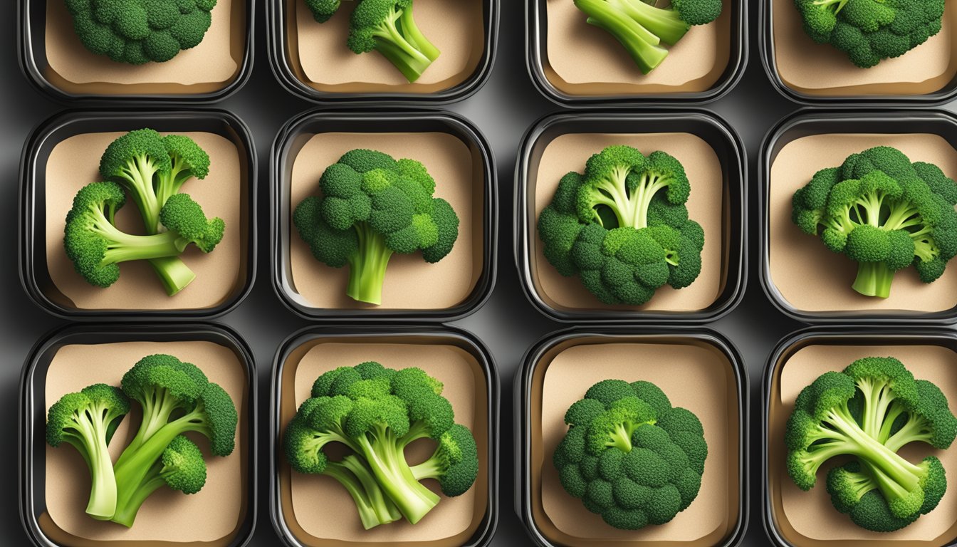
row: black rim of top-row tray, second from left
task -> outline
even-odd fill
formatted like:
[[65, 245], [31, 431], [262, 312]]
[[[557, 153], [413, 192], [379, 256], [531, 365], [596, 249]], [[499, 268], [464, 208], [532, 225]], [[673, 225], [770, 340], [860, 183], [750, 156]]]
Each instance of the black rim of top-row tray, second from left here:
[[285, 8], [282, 0], [266, 0], [266, 27], [271, 31], [268, 34], [267, 49], [269, 50], [269, 66], [276, 80], [286, 91], [312, 103], [349, 104], [375, 106], [387, 104], [390, 106], [429, 106], [457, 103], [475, 95], [488, 81], [498, 55], [497, 44], [499, 36], [499, 17], [501, 0], [483, 0], [486, 20], [484, 50], [479, 59], [479, 65], [468, 79], [455, 86], [435, 93], [335, 93], [318, 91], [296, 78], [289, 67], [285, 55]]

